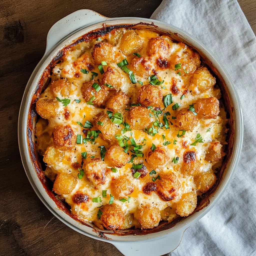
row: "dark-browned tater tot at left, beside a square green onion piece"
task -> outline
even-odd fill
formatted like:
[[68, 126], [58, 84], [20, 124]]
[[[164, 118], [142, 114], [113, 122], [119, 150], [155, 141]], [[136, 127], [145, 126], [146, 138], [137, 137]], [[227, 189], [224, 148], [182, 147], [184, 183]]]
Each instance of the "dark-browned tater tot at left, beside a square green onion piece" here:
[[70, 151], [76, 145], [76, 135], [70, 125], [60, 125], [52, 132], [54, 146], [60, 150]]

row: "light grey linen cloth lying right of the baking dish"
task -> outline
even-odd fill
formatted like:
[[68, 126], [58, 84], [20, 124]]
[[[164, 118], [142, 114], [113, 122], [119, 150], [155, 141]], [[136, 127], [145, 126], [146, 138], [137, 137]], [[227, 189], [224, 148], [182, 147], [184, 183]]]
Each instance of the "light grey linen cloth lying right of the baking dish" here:
[[244, 118], [242, 153], [228, 189], [170, 255], [256, 255], [255, 35], [234, 0], [164, 0], [151, 18], [187, 31], [217, 56], [236, 86]]

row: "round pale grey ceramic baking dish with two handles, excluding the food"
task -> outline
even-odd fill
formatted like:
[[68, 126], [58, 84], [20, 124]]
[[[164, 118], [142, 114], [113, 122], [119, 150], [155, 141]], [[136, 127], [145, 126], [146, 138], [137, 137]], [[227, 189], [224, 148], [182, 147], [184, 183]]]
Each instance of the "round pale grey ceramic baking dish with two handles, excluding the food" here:
[[[43, 81], [41, 77], [45, 76], [44, 71], [46, 67], [52, 59], [60, 57], [60, 50], [63, 47], [70, 45], [73, 41], [76, 41], [77, 38], [89, 31], [102, 28], [103, 23], [104, 26], [115, 26], [120, 24], [157, 26], [157, 30], [169, 33], [177, 41], [182, 41], [193, 46], [225, 87], [223, 97], [226, 100], [228, 112], [230, 113], [231, 134], [229, 139], [228, 161], [226, 161], [222, 168], [223, 175], [218, 186], [215, 188], [214, 193], [209, 194], [207, 199], [202, 201], [197, 212], [186, 219], [182, 219], [175, 226], [159, 228], [155, 232], [152, 232], [152, 230], [151, 232], [138, 232], [138, 234], [141, 234], [140, 236], [134, 236], [130, 233], [122, 233], [122, 236], [117, 236], [113, 232], [96, 230], [91, 224], [84, 225], [72, 218], [67, 208], [47, 190], [46, 179], [43, 177], [44, 174], [37, 164], [35, 154], [33, 154], [35, 150], [33, 141], [35, 111], [31, 109], [31, 101], [37, 97], [36, 92], [43, 86], [39, 81]], [[65, 30], [64, 34], [63, 30]], [[242, 112], [234, 85], [220, 62], [200, 42], [186, 34], [184, 31], [165, 23], [141, 18], [106, 18], [91, 10], [79, 10], [70, 14], [61, 19], [50, 29], [47, 36], [45, 55], [35, 68], [25, 89], [18, 122], [18, 138], [22, 161], [29, 181], [38, 197], [46, 207], [66, 225], [89, 237], [112, 243], [124, 255], [139, 255], [142, 251], [149, 255], [162, 255], [174, 250], [178, 246], [184, 230], [204, 216], [217, 202], [228, 186], [239, 160], [242, 134]], [[204, 207], [206, 205], [207, 207]], [[152, 243], [154, 242], [156, 242], [158, 246], [154, 246], [154, 244], [152, 246]], [[150, 247], [148, 246], [149, 243], [151, 245]], [[150, 248], [150, 250], [147, 248]]]

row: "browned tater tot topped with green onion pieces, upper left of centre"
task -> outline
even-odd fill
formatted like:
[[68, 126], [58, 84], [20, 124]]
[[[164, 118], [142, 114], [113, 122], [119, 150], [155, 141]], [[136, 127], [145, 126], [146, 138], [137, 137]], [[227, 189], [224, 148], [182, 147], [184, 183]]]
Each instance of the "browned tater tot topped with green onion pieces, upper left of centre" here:
[[[100, 107], [101, 105], [105, 105], [106, 99], [108, 97], [109, 91], [107, 90], [106, 86], [102, 86], [99, 83], [99, 86], [101, 89], [97, 92], [92, 85], [94, 83], [98, 83], [97, 81], [90, 80], [87, 82], [84, 82], [81, 87], [81, 93], [86, 102], [90, 101], [92, 96], [95, 97], [94, 100], [92, 100], [92, 103], [94, 106]], [[92, 94], [93, 93], [93, 94]]]

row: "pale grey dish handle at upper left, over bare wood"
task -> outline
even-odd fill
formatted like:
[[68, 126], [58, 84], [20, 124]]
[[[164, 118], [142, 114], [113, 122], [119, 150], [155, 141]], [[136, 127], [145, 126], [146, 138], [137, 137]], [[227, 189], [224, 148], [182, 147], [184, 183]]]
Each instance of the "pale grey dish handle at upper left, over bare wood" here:
[[47, 54], [59, 41], [66, 39], [70, 34], [74, 34], [81, 28], [104, 22], [108, 19], [97, 12], [89, 9], [77, 10], [68, 16], [57, 21], [47, 34], [46, 50]]

